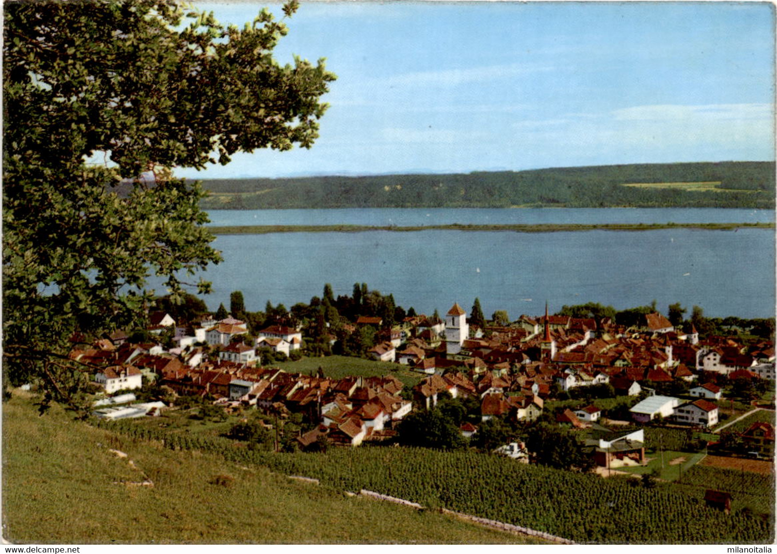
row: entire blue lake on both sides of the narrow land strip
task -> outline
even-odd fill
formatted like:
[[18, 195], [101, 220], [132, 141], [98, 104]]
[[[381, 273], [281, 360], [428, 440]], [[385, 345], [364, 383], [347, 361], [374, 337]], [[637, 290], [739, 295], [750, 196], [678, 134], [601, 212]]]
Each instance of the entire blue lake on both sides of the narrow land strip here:
[[[248, 224], [253, 216], [265, 225], [416, 225], [426, 214], [435, 223], [774, 220], [768, 211], [630, 209], [214, 211], [211, 218], [218, 225]], [[775, 312], [775, 235], [765, 229], [279, 233], [219, 236], [214, 246], [225, 261], [204, 274], [214, 284], [205, 298], [212, 309], [228, 306], [236, 290], [247, 309], [260, 310], [268, 300], [287, 308], [308, 302], [325, 283], [337, 295], [366, 282], [428, 314], [447, 312], [454, 301], [469, 311], [476, 297], [486, 315], [506, 309], [512, 318], [542, 314], [545, 301], [551, 311], [587, 301], [622, 309], [655, 299], [662, 312], [677, 301], [688, 314], [700, 305], [709, 317]]]

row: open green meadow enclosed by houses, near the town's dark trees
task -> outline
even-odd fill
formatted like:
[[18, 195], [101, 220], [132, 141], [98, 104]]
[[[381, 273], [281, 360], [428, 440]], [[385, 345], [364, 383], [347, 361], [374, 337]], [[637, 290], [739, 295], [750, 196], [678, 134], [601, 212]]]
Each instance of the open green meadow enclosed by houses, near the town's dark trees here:
[[313, 375], [319, 368], [322, 368], [326, 377], [335, 379], [359, 375], [382, 377], [390, 374], [398, 378], [406, 387], [416, 385], [424, 377], [424, 375], [410, 371], [401, 364], [350, 356], [303, 357], [299, 361], [286, 361], [274, 364], [274, 366], [289, 373], [304, 373], [306, 375]]

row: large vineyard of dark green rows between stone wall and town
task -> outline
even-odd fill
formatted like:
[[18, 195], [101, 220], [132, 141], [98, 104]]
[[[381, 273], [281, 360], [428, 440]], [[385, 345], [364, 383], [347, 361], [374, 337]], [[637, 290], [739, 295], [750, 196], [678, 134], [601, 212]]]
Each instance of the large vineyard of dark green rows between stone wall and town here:
[[373, 490], [575, 542], [754, 543], [771, 542], [774, 536], [769, 518], [750, 510], [726, 515], [706, 507], [698, 495], [676, 492], [670, 485], [643, 488], [627, 479], [603, 480], [473, 451], [362, 447], [330, 448], [326, 454], [276, 454], [252, 451], [221, 437], [168, 436], [165, 430], [140, 428], [133, 422], [98, 424], [132, 437], [164, 441], [168, 448], [218, 451], [232, 462], [320, 479], [338, 490]]

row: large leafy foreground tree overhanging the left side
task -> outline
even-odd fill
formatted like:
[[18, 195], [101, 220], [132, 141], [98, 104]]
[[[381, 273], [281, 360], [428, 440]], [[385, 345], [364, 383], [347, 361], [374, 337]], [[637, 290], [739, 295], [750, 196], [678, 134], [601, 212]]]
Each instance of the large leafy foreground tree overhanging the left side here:
[[203, 191], [172, 168], [309, 148], [334, 76], [278, 64], [287, 28], [267, 10], [239, 30], [161, 0], [3, 8], [4, 375], [76, 407], [91, 368], [71, 337], [137, 326], [149, 275], [177, 300], [220, 260]]

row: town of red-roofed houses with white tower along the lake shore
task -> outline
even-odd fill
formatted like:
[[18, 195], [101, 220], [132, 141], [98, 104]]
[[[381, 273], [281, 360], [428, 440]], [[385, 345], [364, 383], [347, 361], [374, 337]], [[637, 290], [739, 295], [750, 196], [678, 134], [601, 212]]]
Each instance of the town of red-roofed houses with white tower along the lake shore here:
[[[150, 312], [147, 328], [132, 337], [145, 340], [133, 342], [119, 330], [74, 348], [71, 358], [99, 368], [93, 385], [100, 418], [159, 416], [191, 406], [191, 399], [210, 406], [207, 413], [256, 409], [267, 430], [275, 423], [274, 440], [266, 434], [275, 450], [470, 444], [517, 462], [610, 475], [648, 465], [646, 434], [663, 429], [694, 437], [685, 446], [695, 450], [773, 459], [775, 354], [769, 338], [703, 335], [693, 321], [676, 326], [654, 305], [617, 317], [591, 304], [562, 310], [587, 309], [584, 317], [549, 315], [546, 307], [542, 315], [510, 321], [495, 312], [486, 321], [477, 299], [469, 317], [458, 303], [442, 317], [412, 308], [408, 315], [393, 304], [390, 295], [365, 284], [354, 286], [353, 298], [337, 299], [326, 285], [322, 300], [291, 311], [268, 304], [257, 322], [237, 292], [232, 311], [248, 322], [223, 305], [215, 315], [192, 320], [176, 320], [173, 309]], [[685, 312], [670, 308], [673, 319]], [[703, 318], [696, 321], [709, 327]], [[338, 352], [360, 354], [381, 375], [276, 367], [286, 361], [293, 368], [303, 357], [323, 366], [325, 354]], [[387, 364], [395, 371], [385, 371]], [[136, 402], [134, 392], [141, 390], [156, 394]], [[446, 428], [454, 429], [442, 440], [423, 430], [433, 412], [444, 413]], [[298, 423], [289, 427], [295, 434], [284, 445], [279, 418]], [[551, 448], [563, 444], [559, 433], [574, 437], [560, 462]]]

